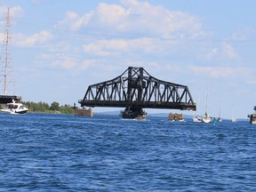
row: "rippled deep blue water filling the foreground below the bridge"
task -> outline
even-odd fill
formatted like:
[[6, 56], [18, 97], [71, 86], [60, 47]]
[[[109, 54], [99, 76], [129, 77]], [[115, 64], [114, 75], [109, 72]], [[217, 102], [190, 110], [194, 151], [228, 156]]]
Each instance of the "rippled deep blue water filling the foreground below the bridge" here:
[[256, 125], [0, 115], [0, 191], [255, 191]]

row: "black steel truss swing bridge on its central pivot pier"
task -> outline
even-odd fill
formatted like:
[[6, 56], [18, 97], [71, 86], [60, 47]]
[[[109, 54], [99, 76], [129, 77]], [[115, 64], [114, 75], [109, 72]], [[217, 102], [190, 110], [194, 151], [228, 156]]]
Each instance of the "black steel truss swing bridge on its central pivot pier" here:
[[81, 107], [125, 108], [124, 117], [144, 113], [142, 108], [196, 110], [188, 86], [150, 76], [144, 68], [127, 68], [121, 76], [89, 85]]

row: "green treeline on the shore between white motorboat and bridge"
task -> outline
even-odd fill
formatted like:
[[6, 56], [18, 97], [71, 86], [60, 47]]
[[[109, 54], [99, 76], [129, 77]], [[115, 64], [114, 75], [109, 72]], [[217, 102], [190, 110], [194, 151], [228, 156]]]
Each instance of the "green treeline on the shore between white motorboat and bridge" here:
[[74, 114], [74, 108], [70, 105], [62, 105], [56, 101], [49, 105], [46, 102], [22, 102], [28, 107], [28, 112], [39, 112], [39, 113], [61, 113], [61, 114]]

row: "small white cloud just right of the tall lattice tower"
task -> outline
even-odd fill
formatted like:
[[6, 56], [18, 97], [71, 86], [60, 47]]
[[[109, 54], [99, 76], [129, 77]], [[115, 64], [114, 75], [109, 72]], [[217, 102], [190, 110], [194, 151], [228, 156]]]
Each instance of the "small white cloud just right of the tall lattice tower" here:
[[17, 46], [33, 47], [36, 44], [44, 44], [52, 39], [52, 34], [48, 31], [41, 31], [32, 36], [24, 36], [22, 34], [13, 35], [12, 44]]

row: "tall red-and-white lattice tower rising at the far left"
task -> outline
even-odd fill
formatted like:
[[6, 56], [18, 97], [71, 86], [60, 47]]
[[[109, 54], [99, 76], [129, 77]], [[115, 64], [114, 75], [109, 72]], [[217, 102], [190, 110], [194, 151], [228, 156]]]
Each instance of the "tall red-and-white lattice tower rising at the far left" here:
[[15, 91], [15, 82], [14, 82], [14, 74], [11, 62], [11, 14], [10, 8], [8, 7], [6, 18], [5, 18], [5, 28], [4, 28], [4, 37], [2, 44], [2, 54], [1, 54], [1, 83], [3, 86], [4, 95], [11, 94]]

